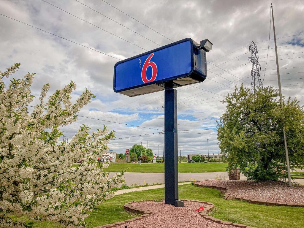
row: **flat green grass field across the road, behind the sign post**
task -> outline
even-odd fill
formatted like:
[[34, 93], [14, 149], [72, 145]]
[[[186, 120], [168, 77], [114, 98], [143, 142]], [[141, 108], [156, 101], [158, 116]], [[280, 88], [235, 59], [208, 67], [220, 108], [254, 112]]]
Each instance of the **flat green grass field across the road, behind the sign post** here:
[[[179, 173], [204, 173], [204, 172], [224, 172], [226, 171], [226, 163], [178, 163]], [[111, 163], [109, 168], [105, 171], [108, 172], [126, 172], [134, 173], [163, 173], [163, 163]]]

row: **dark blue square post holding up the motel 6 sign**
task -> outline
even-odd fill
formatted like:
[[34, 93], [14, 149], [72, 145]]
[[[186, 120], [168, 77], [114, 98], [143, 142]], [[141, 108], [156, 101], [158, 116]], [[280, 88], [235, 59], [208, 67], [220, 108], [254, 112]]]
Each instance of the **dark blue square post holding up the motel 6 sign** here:
[[165, 83], [165, 204], [178, 200], [177, 90]]

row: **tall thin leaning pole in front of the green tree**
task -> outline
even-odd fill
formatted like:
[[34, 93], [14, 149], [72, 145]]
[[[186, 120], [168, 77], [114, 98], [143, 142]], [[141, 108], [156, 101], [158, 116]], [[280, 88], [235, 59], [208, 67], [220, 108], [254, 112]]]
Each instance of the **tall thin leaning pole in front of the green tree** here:
[[[277, 40], [276, 40], [276, 37], [275, 37], [275, 19], [273, 18], [272, 4], [271, 4], [270, 8], [271, 8], [271, 13], [272, 13], [273, 36], [274, 36], [274, 40], [275, 40], [275, 59], [276, 59], [276, 62], [277, 62], [277, 73], [278, 73], [278, 85], [279, 85], [280, 103], [281, 103], [281, 109], [283, 109], [283, 99], [282, 99], [281, 79], [280, 79], [280, 71], [279, 71]], [[292, 185], [291, 185], [291, 177], [290, 177], [288, 147], [287, 147], [287, 141], [286, 141], [284, 119], [283, 119], [283, 136], [284, 136], [284, 145], [285, 145], [285, 155], [286, 155], [286, 165], [287, 165], [287, 174], [288, 174], [288, 184], [289, 184], [289, 187], [292, 187]]]

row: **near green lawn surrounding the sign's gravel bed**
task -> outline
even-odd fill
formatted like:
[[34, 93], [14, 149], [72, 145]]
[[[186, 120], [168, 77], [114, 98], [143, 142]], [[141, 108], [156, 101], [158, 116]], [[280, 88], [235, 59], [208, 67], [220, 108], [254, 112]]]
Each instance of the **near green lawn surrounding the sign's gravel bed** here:
[[[130, 192], [117, 195], [98, 206], [86, 219], [86, 228], [101, 226], [130, 219], [135, 214], [127, 213], [123, 204], [131, 201], [164, 198], [164, 188]], [[304, 227], [304, 208], [284, 206], [263, 206], [238, 200], [225, 200], [216, 189], [200, 188], [195, 185], [180, 185], [180, 199], [195, 199], [212, 202], [215, 209], [210, 215], [215, 218], [241, 223], [257, 228]], [[159, 218], [160, 219], [160, 218]], [[33, 228], [62, 228], [50, 222], [34, 223]]]

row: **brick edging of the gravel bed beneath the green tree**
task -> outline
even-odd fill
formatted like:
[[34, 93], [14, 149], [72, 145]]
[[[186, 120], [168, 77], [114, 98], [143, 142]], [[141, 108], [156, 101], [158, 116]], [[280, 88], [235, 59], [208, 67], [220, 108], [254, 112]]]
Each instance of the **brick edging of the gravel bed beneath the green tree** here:
[[249, 203], [256, 203], [256, 204], [261, 204], [261, 205], [266, 205], [266, 206], [291, 206], [291, 207], [304, 207], [304, 203], [294, 203], [294, 202], [276, 202], [276, 201], [270, 201], [270, 200], [261, 200], [261, 199], [254, 199], [254, 198], [249, 198], [249, 197], [242, 197], [239, 195], [231, 195], [231, 188], [224, 188], [224, 187], [219, 187], [215, 185], [204, 185], [204, 184], [198, 184], [196, 181], [193, 182], [198, 187], [204, 187], [204, 188], [215, 188], [218, 190], [224, 190], [226, 191], [224, 195], [224, 199], [238, 199], [238, 200], [244, 200]]

